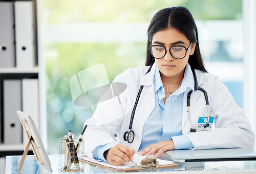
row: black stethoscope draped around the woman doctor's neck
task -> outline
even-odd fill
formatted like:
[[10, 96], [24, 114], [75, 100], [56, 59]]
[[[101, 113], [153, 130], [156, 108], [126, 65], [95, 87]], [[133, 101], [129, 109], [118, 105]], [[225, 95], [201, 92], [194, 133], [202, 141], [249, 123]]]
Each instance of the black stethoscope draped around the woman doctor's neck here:
[[[152, 66], [147, 70], [146, 74], [148, 72], [150, 72]], [[196, 75], [196, 72], [194, 69], [191, 69], [192, 72], [193, 72], [193, 76], [194, 76], [194, 82], [195, 82], [195, 85], [194, 85], [194, 91], [202, 91], [204, 93], [204, 98], [205, 98], [205, 102], [206, 102], [206, 106], [207, 106], [207, 112], [208, 112], [208, 118], [207, 118], [207, 123], [204, 124], [201, 128], [196, 128], [192, 121], [191, 121], [191, 118], [190, 118], [190, 111], [189, 111], [189, 108], [190, 108], [190, 98], [191, 98], [191, 94], [193, 93], [193, 90], [190, 90], [187, 94], [187, 112], [188, 112], [188, 118], [189, 118], [189, 122], [191, 124], [191, 126], [193, 128], [190, 128], [190, 132], [199, 132], [199, 131], [204, 131], [208, 126], [209, 126], [209, 119], [210, 119], [210, 115], [209, 115], [209, 101], [208, 101], [208, 95], [207, 95], [207, 92], [199, 87], [198, 85], [198, 81], [197, 81], [197, 75]], [[133, 126], [133, 119], [134, 119], [134, 114], [135, 114], [135, 111], [136, 111], [136, 107], [138, 105], [138, 102], [139, 102], [139, 99], [140, 99], [140, 95], [141, 95], [141, 92], [143, 90], [143, 87], [144, 85], [140, 85], [140, 89], [139, 89], [139, 92], [138, 92], [138, 95], [137, 95], [137, 98], [136, 98], [136, 101], [135, 101], [135, 104], [134, 104], [134, 107], [133, 107], [133, 111], [132, 111], [132, 115], [131, 115], [131, 120], [130, 120], [130, 125], [129, 125], [129, 130], [126, 131], [124, 134], [123, 134], [123, 139], [124, 141], [127, 141], [128, 143], [132, 143], [133, 140], [134, 140], [134, 137], [135, 137], [135, 134], [132, 130], [132, 126]]]

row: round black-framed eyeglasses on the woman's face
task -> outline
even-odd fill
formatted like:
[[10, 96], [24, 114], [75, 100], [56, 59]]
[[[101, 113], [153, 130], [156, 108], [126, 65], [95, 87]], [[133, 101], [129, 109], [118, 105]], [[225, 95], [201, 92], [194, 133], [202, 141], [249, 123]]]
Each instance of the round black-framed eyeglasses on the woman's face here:
[[[169, 48], [170, 55], [172, 55], [173, 58], [176, 58], [176, 59], [184, 58], [187, 54], [187, 50], [189, 49], [189, 47], [191, 46], [192, 43], [193, 42], [191, 42], [190, 45], [187, 48], [184, 47], [184, 46], [172, 46], [172, 47], [170, 47]], [[155, 45], [155, 46], [151, 45], [148, 49], [150, 50], [150, 54], [156, 59], [163, 58], [167, 53], [167, 49], [164, 46], [161, 46], [161, 45]]]

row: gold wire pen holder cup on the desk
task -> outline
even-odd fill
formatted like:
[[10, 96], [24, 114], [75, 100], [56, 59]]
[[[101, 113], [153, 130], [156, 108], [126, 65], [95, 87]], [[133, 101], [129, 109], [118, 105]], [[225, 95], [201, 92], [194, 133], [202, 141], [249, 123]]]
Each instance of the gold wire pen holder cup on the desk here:
[[83, 140], [78, 141], [74, 138], [74, 142], [66, 142], [59, 140], [59, 170], [66, 172], [83, 171], [84, 163], [79, 160], [83, 155]]

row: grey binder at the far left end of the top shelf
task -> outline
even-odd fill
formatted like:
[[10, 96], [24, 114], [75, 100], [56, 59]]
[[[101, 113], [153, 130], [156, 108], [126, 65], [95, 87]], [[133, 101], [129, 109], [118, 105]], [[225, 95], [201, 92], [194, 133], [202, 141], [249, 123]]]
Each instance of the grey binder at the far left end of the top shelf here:
[[0, 2], [0, 67], [15, 67], [13, 2]]

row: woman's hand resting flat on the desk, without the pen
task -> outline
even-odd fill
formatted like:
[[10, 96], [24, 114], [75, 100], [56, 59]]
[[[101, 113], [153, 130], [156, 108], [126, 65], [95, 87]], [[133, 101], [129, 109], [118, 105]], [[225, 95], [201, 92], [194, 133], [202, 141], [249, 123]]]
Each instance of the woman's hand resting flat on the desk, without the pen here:
[[152, 155], [154, 153], [157, 153], [155, 157], [158, 157], [160, 154], [164, 153], [167, 150], [174, 150], [174, 141], [168, 140], [168, 141], [161, 141], [156, 144], [152, 144], [150, 146], [147, 146], [141, 152], [139, 155]]

